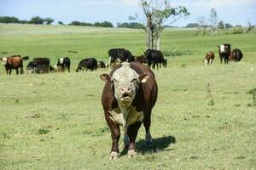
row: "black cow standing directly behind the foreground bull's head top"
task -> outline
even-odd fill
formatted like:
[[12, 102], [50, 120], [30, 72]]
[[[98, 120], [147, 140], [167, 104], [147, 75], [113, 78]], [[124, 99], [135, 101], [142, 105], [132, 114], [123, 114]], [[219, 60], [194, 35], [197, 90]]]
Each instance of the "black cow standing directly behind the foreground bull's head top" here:
[[135, 61], [131, 52], [125, 48], [112, 48], [108, 50], [109, 66], [113, 66], [113, 62], [119, 59], [120, 62], [124, 61]]

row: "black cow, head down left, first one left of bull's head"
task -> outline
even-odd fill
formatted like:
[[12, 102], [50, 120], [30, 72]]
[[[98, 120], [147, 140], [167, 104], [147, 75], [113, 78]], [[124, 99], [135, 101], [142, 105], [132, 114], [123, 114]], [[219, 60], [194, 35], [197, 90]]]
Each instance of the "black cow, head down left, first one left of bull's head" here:
[[84, 69], [86, 69], [86, 71], [88, 71], [88, 70], [90, 70], [90, 71], [97, 70], [97, 60], [95, 58], [82, 59], [79, 62], [79, 65], [78, 65], [78, 68], [77, 68], [76, 72], [84, 71]]

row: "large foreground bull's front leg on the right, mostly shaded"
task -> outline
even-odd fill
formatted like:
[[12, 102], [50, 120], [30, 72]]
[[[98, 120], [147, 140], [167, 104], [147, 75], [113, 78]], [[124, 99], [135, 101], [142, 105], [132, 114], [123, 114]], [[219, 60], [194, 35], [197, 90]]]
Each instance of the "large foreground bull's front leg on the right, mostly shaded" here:
[[127, 129], [127, 135], [130, 141], [130, 144], [128, 145], [129, 158], [137, 155], [135, 140], [137, 138], [137, 131], [141, 127], [141, 125], [142, 125], [142, 122], [135, 122], [134, 124], [130, 125]]

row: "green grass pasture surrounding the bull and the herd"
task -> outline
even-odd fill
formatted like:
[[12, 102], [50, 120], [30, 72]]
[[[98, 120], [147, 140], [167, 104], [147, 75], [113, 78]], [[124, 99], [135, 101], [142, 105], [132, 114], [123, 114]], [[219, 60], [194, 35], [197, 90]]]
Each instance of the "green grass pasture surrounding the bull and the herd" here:
[[[109, 48], [145, 49], [143, 31], [80, 26], [0, 25], [0, 55], [69, 56], [72, 72], [7, 77], [0, 65], [0, 169], [255, 169], [256, 31], [197, 37], [193, 30], [167, 29], [168, 57], [154, 71], [159, 97], [152, 114], [154, 144], [137, 136], [139, 154], [109, 161], [99, 79], [108, 69], [74, 72], [80, 59], [108, 61]], [[240, 63], [220, 65], [218, 44], [241, 48]], [[69, 54], [68, 50], [78, 51]], [[207, 51], [216, 59], [203, 65]], [[8, 54], [1, 54], [8, 52]], [[28, 61], [25, 61], [25, 65]], [[122, 145], [121, 141], [119, 143]]]

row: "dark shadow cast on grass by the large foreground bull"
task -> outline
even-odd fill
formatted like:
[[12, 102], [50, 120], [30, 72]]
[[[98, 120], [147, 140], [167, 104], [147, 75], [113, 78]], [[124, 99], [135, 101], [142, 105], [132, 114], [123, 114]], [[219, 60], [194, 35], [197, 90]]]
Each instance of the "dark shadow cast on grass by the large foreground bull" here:
[[[144, 139], [137, 141], [137, 151], [144, 155], [146, 153], [156, 153], [165, 150], [170, 144], [175, 144], [176, 139], [174, 136], [163, 136], [158, 139], [153, 139], [153, 144], [146, 144]], [[172, 150], [172, 149], [169, 149]], [[122, 150], [121, 155], [127, 154], [127, 150]]]

